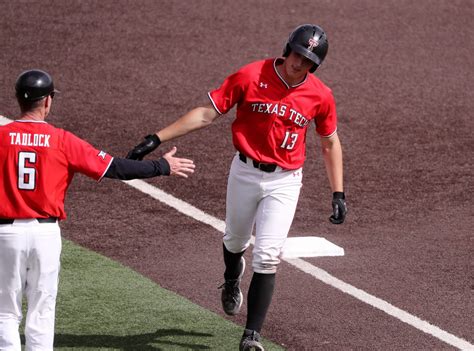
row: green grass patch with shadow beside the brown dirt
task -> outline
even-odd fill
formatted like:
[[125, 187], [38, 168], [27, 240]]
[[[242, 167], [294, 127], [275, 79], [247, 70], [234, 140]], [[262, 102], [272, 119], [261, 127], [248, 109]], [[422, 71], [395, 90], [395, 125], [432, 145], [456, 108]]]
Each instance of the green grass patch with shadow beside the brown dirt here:
[[63, 240], [61, 264], [55, 350], [238, 349], [241, 326], [115, 261]]

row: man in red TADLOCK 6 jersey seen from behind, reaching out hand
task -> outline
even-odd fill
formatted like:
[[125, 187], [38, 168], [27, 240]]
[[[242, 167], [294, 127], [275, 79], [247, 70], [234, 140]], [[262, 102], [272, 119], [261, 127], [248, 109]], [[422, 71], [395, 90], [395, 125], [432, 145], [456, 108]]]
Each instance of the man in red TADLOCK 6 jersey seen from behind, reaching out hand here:
[[113, 158], [86, 141], [45, 122], [57, 91], [51, 76], [28, 70], [16, 81], [21, 109], [0, 126], [0, 350], [20, 351], [22, 295], [28, 311], [26, 350], [53, 350], [64, 198], [76, 172], [97, 181], [187, 177], [193, 161], [176, 148], [159, 160]]

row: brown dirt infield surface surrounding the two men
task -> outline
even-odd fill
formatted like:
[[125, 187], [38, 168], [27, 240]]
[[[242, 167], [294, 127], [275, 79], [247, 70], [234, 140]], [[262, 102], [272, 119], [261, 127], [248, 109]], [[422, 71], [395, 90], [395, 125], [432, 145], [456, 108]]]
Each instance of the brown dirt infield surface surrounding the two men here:
[[[0, 114], [17, 113], [17, 75], [43, 68], [61, 90], [49, 121], [123, 156], [207, 102], [227, 74], [280, 55], [297, 24], [318, 23], [330, 47], [317, 74], [336, 97], [350, 212], [342, 226], [328, 222], [330, 191], [310, 135], [290, 235], [342, 246], [344, 257], [307, 261], [473, 343], [473, 2], [192, 4], [0, 1]], [[233, 117], [174, 143], [195, 160], [192, 178], [150, 183], [224, 219]], [[223, 315], [218, 231], [107, 180], [76, 177], [66, 205], [66, 238]], [[456, 349], [287, 263], [262, 333], [289, 350]]]

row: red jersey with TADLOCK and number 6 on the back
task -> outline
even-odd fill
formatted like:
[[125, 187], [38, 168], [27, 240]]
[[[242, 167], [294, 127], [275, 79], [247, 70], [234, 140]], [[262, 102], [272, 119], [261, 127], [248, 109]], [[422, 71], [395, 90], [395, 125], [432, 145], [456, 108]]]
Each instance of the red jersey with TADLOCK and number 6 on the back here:
[[41, 121], [0, 127], [0, 218], [66, 218], [64, 198], [74, 173], [99, 181], [112, 156]]

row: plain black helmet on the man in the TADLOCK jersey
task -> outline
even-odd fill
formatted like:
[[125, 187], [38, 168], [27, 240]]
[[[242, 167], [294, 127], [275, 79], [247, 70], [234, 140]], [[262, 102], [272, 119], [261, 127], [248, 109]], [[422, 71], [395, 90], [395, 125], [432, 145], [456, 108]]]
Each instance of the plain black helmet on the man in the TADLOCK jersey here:
[[23, 101], [37, 101], [58, 92], [54, 89], [53, 78], [39, 69], [20, 74], [16, 80], [15, 90], [17, 98]]

